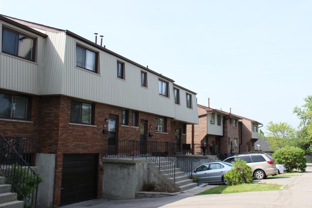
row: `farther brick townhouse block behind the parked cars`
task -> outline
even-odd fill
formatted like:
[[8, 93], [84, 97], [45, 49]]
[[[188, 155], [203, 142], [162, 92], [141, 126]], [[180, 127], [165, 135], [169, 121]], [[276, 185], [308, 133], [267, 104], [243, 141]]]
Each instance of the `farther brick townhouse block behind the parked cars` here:
[[227, 155], [254, 151], [261, 123], [199, 104], [197, 112], [199, 124], [187, 126], [187, 143], [215, 144], [216, 153]]

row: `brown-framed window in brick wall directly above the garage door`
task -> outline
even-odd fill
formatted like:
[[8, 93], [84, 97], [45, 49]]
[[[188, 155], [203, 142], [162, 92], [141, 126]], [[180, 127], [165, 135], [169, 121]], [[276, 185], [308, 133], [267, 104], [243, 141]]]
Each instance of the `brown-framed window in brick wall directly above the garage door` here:
[[71, 101], [71, 122], [91, 124], [93, 104]]

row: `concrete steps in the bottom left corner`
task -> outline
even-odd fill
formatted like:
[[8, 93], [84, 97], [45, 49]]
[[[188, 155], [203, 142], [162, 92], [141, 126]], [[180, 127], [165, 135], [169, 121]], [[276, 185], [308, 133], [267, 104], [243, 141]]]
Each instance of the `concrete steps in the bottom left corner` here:
[[12, 185], [5, 184], [6, 177], [0, 177], [0, 208], [22, 208], [24, 201], [17, 201], [17, 193], [11, 192]]

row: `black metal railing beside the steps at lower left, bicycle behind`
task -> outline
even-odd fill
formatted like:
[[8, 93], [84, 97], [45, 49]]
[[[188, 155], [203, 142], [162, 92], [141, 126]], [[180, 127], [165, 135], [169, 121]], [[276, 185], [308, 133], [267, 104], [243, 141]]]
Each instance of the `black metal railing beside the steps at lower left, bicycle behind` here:
[[0, 135], [0, 169], [2, 176], [7, 177], [7, 183], [12, 184], [12, 191], [17, 192], [17, 199], [24, 200], [35, 208], [36, 190], [41, 178], [26, 162], [32, 161], [32, 157], [29, 157], [29, 153], [33, 153], [29, 148], [30, 141], [30, 138], [4, 138]]

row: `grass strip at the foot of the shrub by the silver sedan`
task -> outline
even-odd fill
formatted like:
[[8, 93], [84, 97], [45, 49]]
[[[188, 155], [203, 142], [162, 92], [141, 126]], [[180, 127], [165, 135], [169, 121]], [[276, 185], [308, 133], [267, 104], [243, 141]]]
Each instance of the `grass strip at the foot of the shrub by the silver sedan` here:
[[280, 184], [267, 184], [267, 183], [249, 183], [240, 184], [236, 186], [216, 186], [196, 195], [202, 194], [230, 194], [230, 193], [240, 193], [240, 192], [250, 192], [250, 191], [275, 191], [280, 190], [283, 185]]

